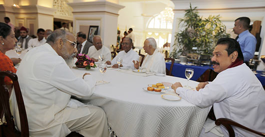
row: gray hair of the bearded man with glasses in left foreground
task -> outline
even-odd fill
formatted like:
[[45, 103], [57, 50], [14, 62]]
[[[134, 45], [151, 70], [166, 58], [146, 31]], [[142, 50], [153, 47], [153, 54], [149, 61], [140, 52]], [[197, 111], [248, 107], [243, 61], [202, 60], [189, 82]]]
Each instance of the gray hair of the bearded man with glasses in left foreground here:
[[55, 44], [59, 38], [63, 39], [63, 42], [65, 42], [66, 34], [67, 34], [66, 31], [63, 29], [56, 29], [47, 37], [46, 42], [52, 45]]

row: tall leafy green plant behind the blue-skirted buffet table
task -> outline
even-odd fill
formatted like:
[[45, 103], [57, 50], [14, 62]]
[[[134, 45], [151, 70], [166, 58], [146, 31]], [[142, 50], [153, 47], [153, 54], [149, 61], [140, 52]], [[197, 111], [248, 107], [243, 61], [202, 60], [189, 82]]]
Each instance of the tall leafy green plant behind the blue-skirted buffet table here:
[[[209, 15], [202, 19], [198, 15], [197, 7], [185, 10], [184, 18], [180, 19], [184, 29], [175, 34], [174, 49], [170, 57], [176, 58], [177, 55], [187, 53], [211, 54], [219, 38], [229, 37], [225, 33], [226, 27], [220, 21], [219, 15]], [[197, 47], [192, 50], [192, 47]]]

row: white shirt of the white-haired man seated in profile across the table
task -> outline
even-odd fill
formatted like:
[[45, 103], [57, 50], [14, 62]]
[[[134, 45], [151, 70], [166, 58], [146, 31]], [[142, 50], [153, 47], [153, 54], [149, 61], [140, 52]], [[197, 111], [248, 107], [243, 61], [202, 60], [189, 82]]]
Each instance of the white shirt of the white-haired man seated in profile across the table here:
[[140, 69], [146, 69], [147, 72], [165, 74], [165, 62], [163, 55], [155, 49], [152, 55], [144, 58]]

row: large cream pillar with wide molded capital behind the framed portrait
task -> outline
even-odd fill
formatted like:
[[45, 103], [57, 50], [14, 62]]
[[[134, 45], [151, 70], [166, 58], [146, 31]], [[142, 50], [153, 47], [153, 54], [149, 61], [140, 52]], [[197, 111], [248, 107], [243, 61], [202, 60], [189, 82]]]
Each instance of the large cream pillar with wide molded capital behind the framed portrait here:
[[118, 10], [124, 6], [108, 1], [72, 2], [73, 33], [79, 32], [80, 25], [98, 26], [104, 46], [116, 45]]

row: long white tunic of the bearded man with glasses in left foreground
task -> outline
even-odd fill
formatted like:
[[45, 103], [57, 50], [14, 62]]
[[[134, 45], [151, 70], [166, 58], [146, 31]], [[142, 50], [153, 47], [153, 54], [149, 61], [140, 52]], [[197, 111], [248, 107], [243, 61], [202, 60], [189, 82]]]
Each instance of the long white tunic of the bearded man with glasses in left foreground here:
[[[85, 75], [84, 79], [76, 77], [48, 43], [29, 50], [16, 75], [30, 133], [49, 130], [53, 137], [65, 137], [70, 132], [65, 122], [90, 114], [87, 107], [83, 107], [80, 102], [73, 102], [70, 97], [91, 96], [95, 80], [91, 75]], [[74, 110], [78, 108], [79, 112], [72, 114], [68, 107]], [[17, 124], [19, 119], [15, 120]]]

